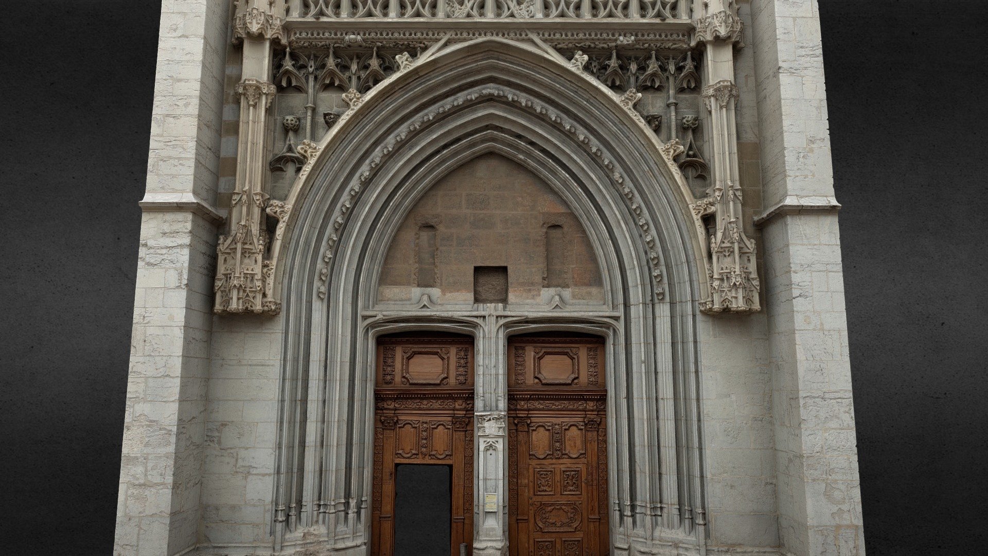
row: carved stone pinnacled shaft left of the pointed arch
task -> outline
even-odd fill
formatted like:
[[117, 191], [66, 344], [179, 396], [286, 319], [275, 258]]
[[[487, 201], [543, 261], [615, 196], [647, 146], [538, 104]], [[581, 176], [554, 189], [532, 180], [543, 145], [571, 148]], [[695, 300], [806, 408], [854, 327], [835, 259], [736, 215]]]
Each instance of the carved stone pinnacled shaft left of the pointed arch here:
[[245, 78], [240, 95], [240, 135], [237, 142], [237, 181], [230, 199], [230, 231], [216, 244], [213, 311], [219, 315], [274, 315], [281, 304], [271, 297], [274, 265], [266, 260], [268, 231], [265, 192], [265, 125], [275, 97], [273, 83]]

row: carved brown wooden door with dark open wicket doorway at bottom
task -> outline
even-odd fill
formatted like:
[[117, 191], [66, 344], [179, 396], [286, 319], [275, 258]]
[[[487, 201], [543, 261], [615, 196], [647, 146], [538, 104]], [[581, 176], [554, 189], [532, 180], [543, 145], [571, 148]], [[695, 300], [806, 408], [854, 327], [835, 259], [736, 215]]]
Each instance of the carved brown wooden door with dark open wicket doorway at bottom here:
[[374, 403], [371, 554], [394, 555], [397, 466], [423, 464], [452, 467], [450, 554], [457, 556], [473, 539], [473, 339], [378, 338]]

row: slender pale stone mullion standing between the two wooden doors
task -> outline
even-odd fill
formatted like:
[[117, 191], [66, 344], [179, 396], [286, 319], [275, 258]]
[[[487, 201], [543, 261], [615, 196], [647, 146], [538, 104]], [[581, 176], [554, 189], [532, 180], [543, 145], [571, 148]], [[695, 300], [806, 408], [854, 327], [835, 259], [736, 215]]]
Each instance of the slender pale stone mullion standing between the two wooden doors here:
[[504, 365], [504, 330], [494, 314], [496, 304], [481, 306], [481, 317], [474, 347], [474, 426], [476, 444], [476, 519], [474, 520], [474, 556], [507, 554], [507, 497], [505, 457], [508, 375]]

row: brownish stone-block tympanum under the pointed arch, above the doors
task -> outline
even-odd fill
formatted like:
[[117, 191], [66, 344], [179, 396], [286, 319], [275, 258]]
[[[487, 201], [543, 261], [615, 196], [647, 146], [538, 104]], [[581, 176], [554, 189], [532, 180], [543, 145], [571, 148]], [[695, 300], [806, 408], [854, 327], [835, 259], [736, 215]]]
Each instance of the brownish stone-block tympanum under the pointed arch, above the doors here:
[[410, 304], [426, 293], [472, 304], [475, 280], [491, 267], [507, 267], [509, 304], [604, 301], [593, 247], [569, 207], [499, 154], [459, 166], [412, 208], [388, 247], [377, 300]]

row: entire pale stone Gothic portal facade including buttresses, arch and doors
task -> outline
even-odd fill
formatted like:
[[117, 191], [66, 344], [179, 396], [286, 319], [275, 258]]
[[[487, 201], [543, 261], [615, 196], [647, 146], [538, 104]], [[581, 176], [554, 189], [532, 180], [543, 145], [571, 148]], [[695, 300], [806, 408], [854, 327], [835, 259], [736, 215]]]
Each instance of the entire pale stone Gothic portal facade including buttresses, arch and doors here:
[[864, 554], [815, 0], [165, 0], [157, 63], [116, 554]]

